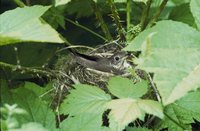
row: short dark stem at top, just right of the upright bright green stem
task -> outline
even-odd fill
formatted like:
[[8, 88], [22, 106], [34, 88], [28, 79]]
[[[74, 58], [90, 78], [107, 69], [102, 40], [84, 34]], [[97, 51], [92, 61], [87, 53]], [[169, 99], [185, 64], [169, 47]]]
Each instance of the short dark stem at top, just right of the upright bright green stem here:
[[147, 22], [147, 18], [148, 18], [148, 15], [149, 15], [151, 3], [152, 3], [152, 0], [148, 0], [147, 4], [144, 6], [144, 9], [143, 9], [143, 12], [142, 12], [142, 17], [141, 17], [141, 20], [140, 20], [140, 25], [141, 25], [142, 30], [144, 30], [145, 27], [146, 27], [146, 22]]

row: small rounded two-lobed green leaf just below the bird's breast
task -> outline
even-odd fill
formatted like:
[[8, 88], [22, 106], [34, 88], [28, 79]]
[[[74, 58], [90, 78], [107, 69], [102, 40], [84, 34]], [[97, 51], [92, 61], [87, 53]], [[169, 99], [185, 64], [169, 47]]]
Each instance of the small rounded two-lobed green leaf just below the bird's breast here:
[[147, 82], [134, 84], [128, 78], [112, 77], [108, 82], [109, 91], [118, 98], [139, 98], [147, 92]]

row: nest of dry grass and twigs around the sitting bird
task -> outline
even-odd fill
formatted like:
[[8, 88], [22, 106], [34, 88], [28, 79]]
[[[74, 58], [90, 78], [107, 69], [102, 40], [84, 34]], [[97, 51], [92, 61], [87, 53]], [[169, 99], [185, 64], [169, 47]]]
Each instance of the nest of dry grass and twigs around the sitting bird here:
[[[84, 54], [92, 56], [110, 57], [116, 52], [120, 51], [120, 47], [116, 44], [106, 44], [95, 48], [94, 50], [87, 50]], [[134, 65], [132, 65], [134, 66]], [[100, 87], [104, 91], [107, 90], [107, 81], [110, 77], [114, 76], [112, 73], [101, 72], [93, 69], [86, 68], [78, 64], [73, 59], [73, 55], [69, 52], [67, 55], [60, 56], [55, 66], [58, 77], [54, 82], [56, 89], [55, 102], [53, 107], [58, 107], [63, 98], [69, 93], [69, 90], [73, 88], [73, 84], [89, 84]], [[138, 77], [133, 75], [125, 76], [136, 82]]]

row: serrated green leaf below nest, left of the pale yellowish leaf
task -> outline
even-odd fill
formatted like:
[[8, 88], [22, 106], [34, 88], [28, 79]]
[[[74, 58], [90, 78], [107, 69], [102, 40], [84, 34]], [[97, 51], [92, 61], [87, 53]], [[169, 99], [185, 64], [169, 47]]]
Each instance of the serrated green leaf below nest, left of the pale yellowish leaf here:
[[111, 97], [98, 87], [78, 84], [61, 105], [61, 113], [77, 115], [81, 113], [101, 114]]

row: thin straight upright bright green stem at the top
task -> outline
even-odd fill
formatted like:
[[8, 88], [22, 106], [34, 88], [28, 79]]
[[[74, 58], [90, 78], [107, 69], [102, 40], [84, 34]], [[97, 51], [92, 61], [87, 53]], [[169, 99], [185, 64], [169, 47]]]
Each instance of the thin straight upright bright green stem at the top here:
[[131, 26], [131, 0], [126, 3], [126, 30], [128, 31]]

